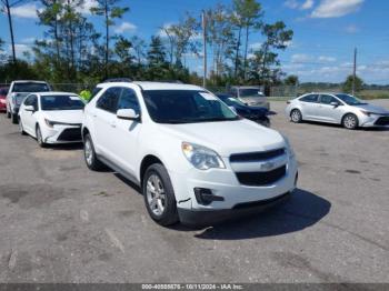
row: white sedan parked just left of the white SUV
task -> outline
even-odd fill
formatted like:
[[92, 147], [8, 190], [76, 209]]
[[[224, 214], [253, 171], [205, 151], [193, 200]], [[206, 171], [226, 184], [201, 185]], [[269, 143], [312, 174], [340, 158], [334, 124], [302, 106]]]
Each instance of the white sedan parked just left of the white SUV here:
[[19, 130], [36, 138], [40, 147], [81, 142], [83, 107], [74, 93], [31, 93], [20, 107]]

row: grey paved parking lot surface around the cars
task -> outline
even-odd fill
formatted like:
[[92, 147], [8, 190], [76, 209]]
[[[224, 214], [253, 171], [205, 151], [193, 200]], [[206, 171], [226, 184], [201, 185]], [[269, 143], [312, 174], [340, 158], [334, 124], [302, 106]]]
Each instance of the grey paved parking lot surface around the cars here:
[[285, 106], [271, 103], [272, 128], [299, 189], [207, 229], [159, 227], [128, 181], [87, 169], [82, 146], [40, 149], [1, 114], [0, 281], [389, 282], [389, 131], [292, 124]]

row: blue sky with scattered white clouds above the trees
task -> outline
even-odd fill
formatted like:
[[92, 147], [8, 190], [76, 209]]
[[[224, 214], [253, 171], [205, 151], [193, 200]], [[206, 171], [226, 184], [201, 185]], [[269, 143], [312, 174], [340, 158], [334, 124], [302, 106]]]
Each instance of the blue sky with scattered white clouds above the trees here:
[[[90, 16], [86, 0], [80, 8], [98, 29], [101, 18]], [[133, 34], [149, 40], [160, 28], [179, 21], [186, 11], [200, 16], [202, 9], [231, 0], [122, 0], [130, 12], [116, 21], [114, 33]], [[297, 74], [301, 82], [342, 82], [352, 73], [353, 50], [357, 48], [357, 73], [367, 83], [389, 84], [389, 1], [388, 0], [262, 0], [259, 1], [268, 23], [282, 20], [295, 31], [289, 48], [280, 52], [282, 69]], [[43, 38], [43, 27], [37, 24], [39, 2], [28, 2], [13, 9], [13, 23], [19, 56], [29, 50], [36, 39]], [[10, 48], [6, 14], [0, 14], [0, 38]], [[250, 37], [250, 49], [260, 46], [259, 32]], [[211, 56], [209, 56], [211, 58]], [[211, 61], [209, 60], [209, 63]], [[186, 64], [201, 74], [202, 59], [186, 57]]]

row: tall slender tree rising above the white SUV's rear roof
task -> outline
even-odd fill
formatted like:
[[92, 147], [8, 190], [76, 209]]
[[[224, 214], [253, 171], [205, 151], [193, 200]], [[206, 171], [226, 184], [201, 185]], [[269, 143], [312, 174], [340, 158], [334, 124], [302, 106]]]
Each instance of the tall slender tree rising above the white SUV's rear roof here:
[[110, 42], [110, 31], [109, 28], [114, 26], [114, 19], [121, 18], [127, 11], [129, 11], [128, 7], [121, 8], [117, 4], [120, 0], [96, 0], [97, 7], [92, 7], [90, 11], [93, 14], [101, 16], [104, 18], [104, 27], [106, 27], [106, 47], [104, 47], [104, 73], [106, 78], [108, 78], [108, 63], [109, 63], [109, 42]]

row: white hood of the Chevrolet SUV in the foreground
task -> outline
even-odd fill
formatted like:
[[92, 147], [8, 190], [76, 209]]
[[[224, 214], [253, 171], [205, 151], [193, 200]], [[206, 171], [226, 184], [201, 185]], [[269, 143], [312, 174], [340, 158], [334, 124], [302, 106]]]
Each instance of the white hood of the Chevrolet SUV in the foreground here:
[[249, 120], [160, 124], [160, 130], [181, 141], [210, 148], [221, 157], [286, 147], [279, 132]]

